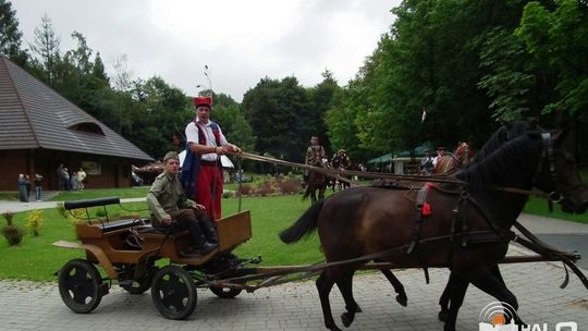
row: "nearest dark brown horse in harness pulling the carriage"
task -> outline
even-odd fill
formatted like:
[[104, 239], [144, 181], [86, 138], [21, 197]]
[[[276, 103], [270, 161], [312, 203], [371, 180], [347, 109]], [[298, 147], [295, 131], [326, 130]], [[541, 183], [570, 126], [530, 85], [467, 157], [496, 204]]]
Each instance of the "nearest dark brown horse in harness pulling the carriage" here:
[[[535, 186], [547, 193], [556, 192], [564, 211], [584, 212], [588, 207], [588, 188], [579, 180], [574, 158], [562, 147], [563, 136], [552, 146], [547, 135], [526, 132], [487, 148], [483, 157], [457, 172], [455, 179], [463, 181], [463, 185], [427, 185], [426, 201], [431, 212], [419, 226], [406, 226], [416, 219], [416, 194], [359, 186], [313, 205], [280, 236], [285, 243], [294, 243], [318, 230], [329, 262], [384, 252], [385, 256], [378, 256], [380, 260], [406, 268], [451, 267], [454, 279], [445, 330], [455, 330], [457, 310], [469, 283], [517, 309], [516, 297], [497, 270], [512, 237], [510, 228], [527, 196], [497, 187], [528, 191]], [[334, 283], [345, 299], [344, 324], [351, 324], [360, 311], [353, 297], [352, 279], [365, 262], [328, 267], [317, 280], [328, 329], [340, 330], [329, 303]]]

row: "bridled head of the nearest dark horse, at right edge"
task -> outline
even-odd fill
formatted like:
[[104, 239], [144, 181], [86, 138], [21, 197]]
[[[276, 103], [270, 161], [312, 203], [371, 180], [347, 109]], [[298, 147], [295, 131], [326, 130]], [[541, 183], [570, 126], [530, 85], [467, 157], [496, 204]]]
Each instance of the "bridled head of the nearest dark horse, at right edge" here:
[[543, 151], [534, 184], [561, 204], [563, 211], [583, 213], [588, 208], [588, 187], [581, 182], [566, 136], [566, 132], [541, 134]]

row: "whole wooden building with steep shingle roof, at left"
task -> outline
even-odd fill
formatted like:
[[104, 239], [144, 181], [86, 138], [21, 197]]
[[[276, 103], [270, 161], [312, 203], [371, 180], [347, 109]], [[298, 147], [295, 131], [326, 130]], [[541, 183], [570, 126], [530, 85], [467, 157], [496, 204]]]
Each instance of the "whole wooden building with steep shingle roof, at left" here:
[[19, 174], [58, 189], [58, 167], [84, 168], [87, 187], [131, 186], [131, 164], [154, 159], [16, 64], [0, 56], [0, 191]]

